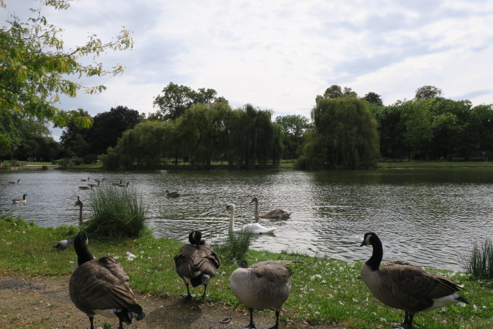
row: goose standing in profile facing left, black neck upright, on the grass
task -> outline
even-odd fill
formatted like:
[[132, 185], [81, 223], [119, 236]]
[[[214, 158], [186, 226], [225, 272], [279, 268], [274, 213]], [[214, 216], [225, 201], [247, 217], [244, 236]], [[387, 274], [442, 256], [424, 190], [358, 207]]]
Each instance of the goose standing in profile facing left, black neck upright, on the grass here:
[[373, 253], [361, 269], [361, 278], [380, 302], [404, 310], [404, 328], [412, 328], [414, 315], [452, 303], [469, 304], [455, 291], [462, 291], [452, 280], [433, 274], [403, 260], [394, 260], [380, 266], [382, 243], [373, 232], [364, 235], [361, 244], [372, 245]]

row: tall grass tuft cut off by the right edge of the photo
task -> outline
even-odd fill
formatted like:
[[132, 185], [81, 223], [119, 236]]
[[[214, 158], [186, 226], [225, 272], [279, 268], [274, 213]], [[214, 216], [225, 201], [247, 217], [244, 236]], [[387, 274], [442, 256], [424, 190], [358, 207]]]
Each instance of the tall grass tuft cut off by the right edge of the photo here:
[[481, 243], [477, 241], [469, 254], [464, 254], [461, 260], [462, 269], [472, 278], [493, 279], [493, 241], [486, 238]]

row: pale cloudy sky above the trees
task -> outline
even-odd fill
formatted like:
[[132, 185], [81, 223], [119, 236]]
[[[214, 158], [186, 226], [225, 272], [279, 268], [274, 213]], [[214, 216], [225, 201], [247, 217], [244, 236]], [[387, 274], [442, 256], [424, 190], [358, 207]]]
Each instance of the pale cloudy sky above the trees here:
[[[36, 0], [5, 0], [27, 19]], [[277, 116], [310, 117], [315, 98], [333, 84], [384, 105], [435, 86], [449, 99], [493, 103], [493, 1], [489, 0], [79, 0], [42, 10], [64, 29], [66, 49], [88, 34], [103, 41], [122, 26], [134, 48], [97, 58], [123, 75], [84, 80], [99, 95], [64, 98], [64, 110], [91, 116], [116, 106], [151, 113], [170, 82], [212, 88], [233, 108], [251, 103]], [[53, 131], [55, 139], [60, 131]]]

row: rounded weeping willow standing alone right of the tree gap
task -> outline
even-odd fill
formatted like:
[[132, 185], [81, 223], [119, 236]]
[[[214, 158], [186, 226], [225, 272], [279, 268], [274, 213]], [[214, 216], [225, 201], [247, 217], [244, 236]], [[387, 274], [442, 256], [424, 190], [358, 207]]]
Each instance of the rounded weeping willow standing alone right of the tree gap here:
[[312, 110], [315, 130], [307, 135], [300, 169], [362, 169], [375, 165], [377, 121], [368, 103], [355, 97], [318, 98]]

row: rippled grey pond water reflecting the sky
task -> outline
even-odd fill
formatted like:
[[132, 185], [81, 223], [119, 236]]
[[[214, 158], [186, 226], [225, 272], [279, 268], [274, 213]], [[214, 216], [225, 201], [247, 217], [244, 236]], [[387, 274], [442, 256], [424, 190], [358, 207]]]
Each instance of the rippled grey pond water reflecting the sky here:
[[[227, 234], [227, 204], [236, 205], [236, 228], [260, 212], [292, 211], [289, 219], [260, 219], [275, 234], [255, 236], [254, 249], [302, 252], [349, 262], [366, 260], [366, 232], [383, 242], [383, 261], [462, 270], [460, 256], [492, 236], [493, 169], [379, 169], [373, 171], [0, 171], [0, 214], [21, 215], [38, 226], [76, 224], [77, 196], [89, 219], [89, 191], [81, 179], [130, 182], [149, 204], [156, 236], [186, 242], [191, 230], [214, 241]], [[20, 179], [20, 184], [8, 181]], [[179, 190], [177, 199], [165, 191]], [[12, 199], [27, 193], [26, 204]]]

